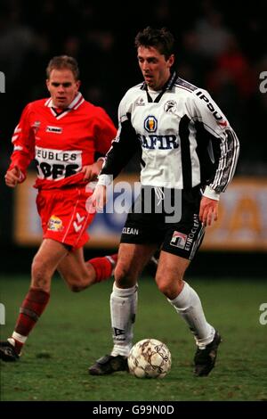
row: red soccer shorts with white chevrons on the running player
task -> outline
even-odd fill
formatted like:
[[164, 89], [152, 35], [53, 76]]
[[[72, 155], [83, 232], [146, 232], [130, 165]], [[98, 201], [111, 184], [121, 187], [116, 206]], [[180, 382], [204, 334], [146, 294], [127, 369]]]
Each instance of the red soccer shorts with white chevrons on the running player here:
[[85, 209], [85, 201], [92, 194], [85, 187], [41, 190], [36, 205], [41, 217], [44, 239], [53, 239], [78, 249], [89, 239], [87, 227], [94, 214]]

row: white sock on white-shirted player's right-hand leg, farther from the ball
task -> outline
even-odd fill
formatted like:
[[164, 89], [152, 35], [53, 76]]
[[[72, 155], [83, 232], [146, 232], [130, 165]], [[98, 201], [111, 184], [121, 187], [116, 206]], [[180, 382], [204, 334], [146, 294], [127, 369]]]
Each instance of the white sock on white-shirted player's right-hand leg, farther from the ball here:
[[214, 340], [215, 331], [214, 327], [206, 322], [197, 292], [184, 282], [182, 292], [174, 300], [168, 301], [190, 326], [198, 347], [205, 349], [206, 345]]

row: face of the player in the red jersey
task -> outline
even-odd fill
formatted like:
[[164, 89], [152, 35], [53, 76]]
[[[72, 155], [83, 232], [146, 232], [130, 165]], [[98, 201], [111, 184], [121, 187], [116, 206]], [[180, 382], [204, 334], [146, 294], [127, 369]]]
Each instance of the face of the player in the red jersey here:
[[56, 108], [66, 109], [77, 95], [80, 81], [74, 78], [71, 70], [52, 70], [46, 86]]

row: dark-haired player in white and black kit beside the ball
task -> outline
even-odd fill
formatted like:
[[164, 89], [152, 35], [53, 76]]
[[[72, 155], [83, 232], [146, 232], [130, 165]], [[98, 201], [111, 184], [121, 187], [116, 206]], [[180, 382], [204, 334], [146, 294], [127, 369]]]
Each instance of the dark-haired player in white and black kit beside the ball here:
[[[239, 140], [206, 90], [176, 75], [174, 37], [167, 29], [143, 29], [135, 37], [135, 46], [144, 81], [130, 88], [119, 105], [117, 138], [107, 154], [92, 204], [101, 208], [112, 178], [138, 149], [142, 193], [138, 205], [135, 202], [139, 210], [133, 208], [128, 214], [119, 246], [110, 297], [114, 347], [89, 368], [89, 374], [127, 369], [137, 280], [159, 249], [158, 289], [193, 333], [197, 344], [194, 374], [205, 376], [214, 368], [222, 339], [206, 321], [198, 294], [183, 275], [206, 226], [218, 217], [220, 194], [235, 172]], [[158, 211], [167, 196], [176, 209], [181, 204], [181, 217], [166, 218], [165, 205]], [[181, 200], [175, 201], [175, 196]], [[152, 203], [151, 211], [146, 210], [148, 203]]]

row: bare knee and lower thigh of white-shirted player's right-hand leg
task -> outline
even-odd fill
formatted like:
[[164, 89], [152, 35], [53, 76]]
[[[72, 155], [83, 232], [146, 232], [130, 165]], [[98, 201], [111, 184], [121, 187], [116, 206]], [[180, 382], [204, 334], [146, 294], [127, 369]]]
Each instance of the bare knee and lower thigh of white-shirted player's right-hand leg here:
[[156, 274], [156, 283], [159, 290], [162, 292], [166, 289], [174, 289], [175, 292], [180, 291], [183, 275], [189, 265], [189, 259], [161, 251]]

